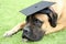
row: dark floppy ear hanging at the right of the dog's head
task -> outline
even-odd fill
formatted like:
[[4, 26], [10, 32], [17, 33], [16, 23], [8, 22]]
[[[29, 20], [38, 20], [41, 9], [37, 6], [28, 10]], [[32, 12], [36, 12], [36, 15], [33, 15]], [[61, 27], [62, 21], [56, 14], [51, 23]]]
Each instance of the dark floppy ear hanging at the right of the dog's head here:
[[50, 15], [50, 19], [48, 19], [50, 24], [51, 24], [53, 28], [55, 28], [56, 24], [57, 24], [57, 13], [55, 13], [55, 12], [52, 11], [48, 15]]

